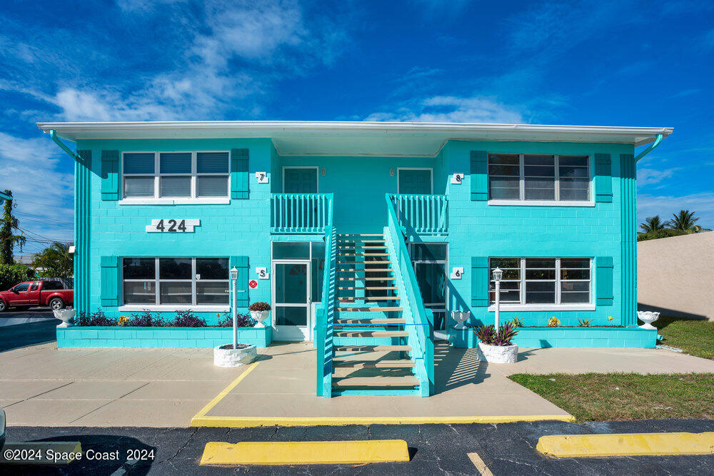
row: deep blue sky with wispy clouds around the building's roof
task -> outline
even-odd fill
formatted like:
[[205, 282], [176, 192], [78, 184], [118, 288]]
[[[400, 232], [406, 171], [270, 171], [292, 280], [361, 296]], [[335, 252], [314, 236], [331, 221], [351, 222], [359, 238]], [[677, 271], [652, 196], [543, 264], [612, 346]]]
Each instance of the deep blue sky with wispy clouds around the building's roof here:
[[640, 221], [714, 228], [710, 1], [12, 1], [0, 22], [0, 187], [26, 252], [72, 236], [71, 159], [36, 121], [668, 126]]

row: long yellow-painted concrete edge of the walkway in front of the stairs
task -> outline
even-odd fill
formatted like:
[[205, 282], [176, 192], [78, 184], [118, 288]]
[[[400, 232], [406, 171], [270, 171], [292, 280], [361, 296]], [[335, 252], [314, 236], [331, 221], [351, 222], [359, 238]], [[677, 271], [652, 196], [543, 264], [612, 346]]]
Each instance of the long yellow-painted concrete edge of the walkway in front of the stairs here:
[[573, 422], [573, 415], [504, 415], [473, 417], [218, 417], [196, 415], [191, 419], [193, 427], [309, 427], [342, 425], [427, 425], [431, 423], [513, 423], [555, 420]]

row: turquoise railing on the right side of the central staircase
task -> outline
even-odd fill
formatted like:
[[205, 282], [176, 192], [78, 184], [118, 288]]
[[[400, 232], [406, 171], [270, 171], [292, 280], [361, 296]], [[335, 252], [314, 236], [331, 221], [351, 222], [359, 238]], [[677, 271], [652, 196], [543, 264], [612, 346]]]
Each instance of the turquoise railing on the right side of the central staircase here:
[[391, 194], [386, 194], [387, 226], [384, 234], [389, 253], [394, 259], [394, 275], [400, 294], [408, 343], [412, 348], [412, 360], [415, 363], [416, 377], [419, 380], [421, 396], [434, 393], [434, 315], [431, 309], [424, 307], [416, 274], [404, 241], [403, 228], [400, 226]]

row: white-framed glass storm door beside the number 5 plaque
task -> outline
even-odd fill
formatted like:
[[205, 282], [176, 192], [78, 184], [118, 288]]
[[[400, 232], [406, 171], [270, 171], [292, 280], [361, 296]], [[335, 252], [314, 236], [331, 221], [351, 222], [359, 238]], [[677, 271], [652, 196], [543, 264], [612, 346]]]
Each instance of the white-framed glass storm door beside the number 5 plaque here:
[[310, 262], [273, 262], [274, 340], [310, 340]]

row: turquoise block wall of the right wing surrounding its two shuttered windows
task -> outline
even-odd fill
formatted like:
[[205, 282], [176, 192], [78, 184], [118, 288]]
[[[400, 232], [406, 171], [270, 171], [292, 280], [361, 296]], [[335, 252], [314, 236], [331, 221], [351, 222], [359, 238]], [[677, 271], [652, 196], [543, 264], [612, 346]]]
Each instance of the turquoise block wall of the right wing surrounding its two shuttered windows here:
[[[471, 200], [471, 151], [501, 153], [560, 153], [594, 156], [607, 153], [611, 158], [612, 201], [596, 202], [595, 206], [495, 206], [487, 201]], [[489, 256], [606, 256], [613, 258], [611, 305], [598, 305], [595, 310], [581, 311], [502, 311], [501, 321], [518, 317], [525, 325], [547, 325], [551, 316], [562, 325], [578, 325], [578, 318], [593, 320], [593, 325], [635, 325], [633, 314], [636, 295], [633, 286], [634, 272], [628, 273], [628, 284], [623, 284], [623, 211], [634, 226], [634, 196], [629, 193], [623, 202], [620, 187], [620, 154], [631, 154], [633, 146], [598, 143], [545, 143], [545, 142], [467, 142], [449, 141], [443, 148], [443, 162], [449, 200], [449, 267], [463, 266], [461, 280], [451, 280], [449, 308], [471, 310], [471, 324], [493, 324], [494, 313], [485, 305], [472, 305], [472, 258]], [[591, 168], [592, 168], [591, 161]], [[629, 170], [629, 169], [628, 169]], [[463, 172], [461, 185], [448, 183], [448, 176]], [[594, 189], [594, 187], [593, 187]], [[597, 191], [595, 191], [596, 193]], [[428, 240], [428, 238], [423, 238]], [[631, 268], [631, 266], [630, 266]], [[593, 275], [594, 265], [593, 265]], [[593, 283], [593, 290], [596, 283]], [[623, 290], [627, 289], [625, 299]], [[595, 300], [593, 299], [593, 302]], [[628, 318], [623, 320], [623, 309]], [[613, 320], [608, 320], [611, 316]], [[452, 323], [453, 324], [453, 323]]]

